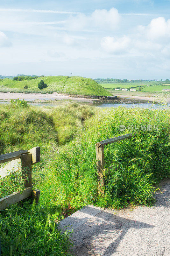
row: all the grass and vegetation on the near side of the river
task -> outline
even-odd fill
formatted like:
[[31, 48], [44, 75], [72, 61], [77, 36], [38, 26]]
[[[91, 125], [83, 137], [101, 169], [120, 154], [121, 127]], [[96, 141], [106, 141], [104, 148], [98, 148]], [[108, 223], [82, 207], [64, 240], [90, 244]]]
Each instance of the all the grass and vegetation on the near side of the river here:
[[[114, 164], [119, 169], [106, 173], [105, 196], [100, 197], [95, 143], [124, 134], [120, 124], [127, 127], [125, 133], [135, 127], [139, 131], [132, 139], [105, 146], [106, 167]], [[155, 186], [170, 174], [168, 109], [97, 109], [76, 103], [38, 108], [18, 101], [1, 106], [0, 132], [1, 154], [41, 148], [41, 162], [33, 166], [33, 184], [40, 189], [40, 204], [24, 204], [24, 208], [16, 204], [1, 212], [4, 255], [9, 255], [9, 244], [14, 256], [55, 255], [56, 250], [57, 255], [67, 255], [67, 237], [53, 227], [53, 219], [60, 220], [86, 204], [116, 208], [152, 204]], [[49, 243], [47, 237], [52, 237]]]

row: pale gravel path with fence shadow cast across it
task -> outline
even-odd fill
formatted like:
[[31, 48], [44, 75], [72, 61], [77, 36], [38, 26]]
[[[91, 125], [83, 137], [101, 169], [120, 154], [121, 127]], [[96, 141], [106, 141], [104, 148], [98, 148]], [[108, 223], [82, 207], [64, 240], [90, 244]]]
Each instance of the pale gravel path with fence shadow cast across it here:
[[121, 211], [85, 206], [61, 221], [74, 229], [76, 256], [169, 256], [170, 180], [163, 182], [151, 207]]

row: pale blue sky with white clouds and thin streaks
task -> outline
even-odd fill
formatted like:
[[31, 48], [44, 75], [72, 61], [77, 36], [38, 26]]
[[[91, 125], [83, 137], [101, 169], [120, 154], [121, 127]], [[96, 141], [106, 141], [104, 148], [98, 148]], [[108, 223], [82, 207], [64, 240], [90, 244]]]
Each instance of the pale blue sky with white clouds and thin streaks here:
[[0, 0], [0, 75], [170, 78], [170, 0]]

